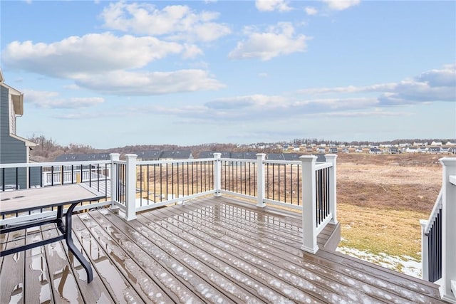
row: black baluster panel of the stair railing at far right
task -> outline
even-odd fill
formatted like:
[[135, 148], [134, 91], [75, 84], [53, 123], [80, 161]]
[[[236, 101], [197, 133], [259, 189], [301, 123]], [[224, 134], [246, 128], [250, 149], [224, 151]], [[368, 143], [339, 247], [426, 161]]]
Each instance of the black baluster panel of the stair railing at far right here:
[[427, 271], [429, 281], [442, 278], [442, 209], [440, 208], [427, 235]]

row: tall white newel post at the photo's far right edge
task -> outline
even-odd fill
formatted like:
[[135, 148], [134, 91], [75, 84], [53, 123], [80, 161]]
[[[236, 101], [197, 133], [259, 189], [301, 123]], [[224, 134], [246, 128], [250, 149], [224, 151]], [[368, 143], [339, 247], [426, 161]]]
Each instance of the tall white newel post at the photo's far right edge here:
[[443, 165], [442, 182], [442, 298], [456, 303], [456, 290], [451, 291], [451, 281], [456, 281], [456, 185], [450, 177], [456, 176], [456, 157], [440, 159]]

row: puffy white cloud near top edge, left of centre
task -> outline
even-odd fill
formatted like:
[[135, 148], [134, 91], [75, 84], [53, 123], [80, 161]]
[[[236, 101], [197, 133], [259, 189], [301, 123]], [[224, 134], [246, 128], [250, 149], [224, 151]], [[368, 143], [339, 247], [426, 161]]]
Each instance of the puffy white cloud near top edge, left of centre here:
[[120, 1], [107, 6], [100, 16], [106, 28], [141, 35], [165, 35], [168, 40], [214, 41], [231, 33], [227, 25], [214, 22], [219, 13], [197, 13], [183, 5], [165, 6], [160, 10], [153, 4]]

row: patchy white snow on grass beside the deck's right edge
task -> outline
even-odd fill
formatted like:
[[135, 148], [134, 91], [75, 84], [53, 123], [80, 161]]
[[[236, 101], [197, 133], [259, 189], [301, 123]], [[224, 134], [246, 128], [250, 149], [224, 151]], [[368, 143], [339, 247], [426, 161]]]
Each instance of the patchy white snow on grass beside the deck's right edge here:
[[363, 261], [375, 263], [394, 271], [408, 274], [409, 276], [414, 276], [415, 278], [421, 278], [421, 261], [418, 261], [411, 256], [388, 256], [386, 253], [376, 255], [348, 247], [338, 247], [336, 251], [348, 256], [353, 256], [354, 258], [359, 258]]

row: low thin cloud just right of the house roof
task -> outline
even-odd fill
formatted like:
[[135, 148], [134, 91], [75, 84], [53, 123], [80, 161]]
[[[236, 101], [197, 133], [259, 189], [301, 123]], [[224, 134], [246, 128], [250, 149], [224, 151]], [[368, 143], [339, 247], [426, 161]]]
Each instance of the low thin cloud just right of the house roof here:
[[104, 98], [61, 98], [57, 92], [25, 90], [24, 100], [38, 108], [78, 109], [89, 108], [104, 103]]

